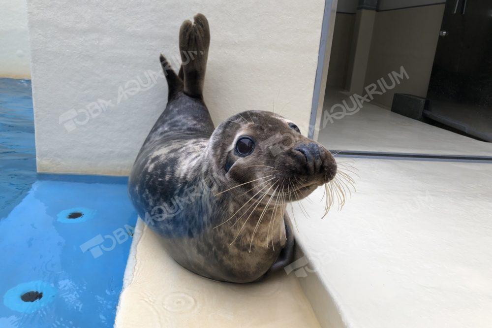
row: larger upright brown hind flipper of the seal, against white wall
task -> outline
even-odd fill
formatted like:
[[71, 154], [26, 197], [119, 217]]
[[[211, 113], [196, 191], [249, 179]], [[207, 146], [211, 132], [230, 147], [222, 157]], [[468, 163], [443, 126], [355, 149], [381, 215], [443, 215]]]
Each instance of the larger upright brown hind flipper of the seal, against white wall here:
[[194, 23], [189, 20], [183, 22], [180, 29], [180, 53], [184, 93], [190, 97], [202, 98], [209, 45], [209, 22], [204, 15], [196, 14]]

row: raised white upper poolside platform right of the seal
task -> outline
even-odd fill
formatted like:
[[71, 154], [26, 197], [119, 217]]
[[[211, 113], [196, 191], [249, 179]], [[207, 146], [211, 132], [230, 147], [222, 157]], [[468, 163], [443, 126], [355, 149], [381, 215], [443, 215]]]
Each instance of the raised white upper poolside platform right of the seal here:
[[492, 164], [338, 161], [360, 176], [345, 207], [321, 220], [318, 189], [293, 212], [320, 324], [490, 327]]

